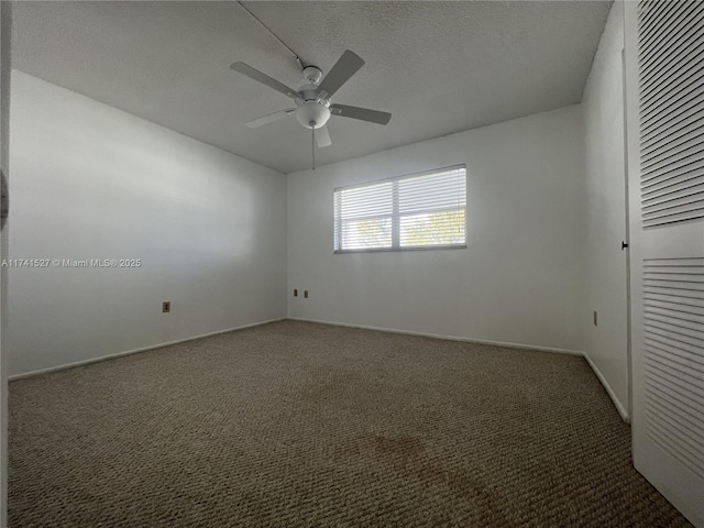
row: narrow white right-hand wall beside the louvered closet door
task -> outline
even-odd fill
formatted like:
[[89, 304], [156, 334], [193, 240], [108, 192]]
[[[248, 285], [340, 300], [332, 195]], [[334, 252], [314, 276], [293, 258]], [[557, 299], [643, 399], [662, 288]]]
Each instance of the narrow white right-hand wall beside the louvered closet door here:
[[[628, 416], [626, 169], [623, 3], [614, 2], [582, 98], [586, 186], [585, 352], [622, 416]], [[598, 312], [598, 326], [592, 312]]]

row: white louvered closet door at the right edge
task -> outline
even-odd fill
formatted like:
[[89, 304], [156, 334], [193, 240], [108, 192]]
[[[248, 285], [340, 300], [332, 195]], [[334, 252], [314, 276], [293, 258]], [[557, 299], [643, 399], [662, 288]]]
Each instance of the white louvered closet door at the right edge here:
[[704, 2], [625, 12], [634, 463], [704, 527]]

